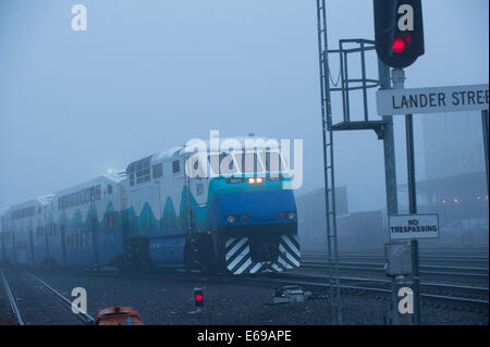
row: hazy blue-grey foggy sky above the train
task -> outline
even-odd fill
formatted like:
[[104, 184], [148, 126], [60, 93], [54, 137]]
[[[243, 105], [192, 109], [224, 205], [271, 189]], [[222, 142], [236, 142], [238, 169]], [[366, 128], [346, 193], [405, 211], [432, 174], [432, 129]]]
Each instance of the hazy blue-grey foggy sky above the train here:
[[[71, 28], [76, 3], [87, 8], [87, 32]], [[488, 84], [489, 2], [422, 3], [426, 54], [406, 70], [406, 87]], [[372, 1], [327, 7], [331, 48], [373, 38]], [[315, 0], [1, 0], [0, 208], [212, 129], [303, 139], [303, 189], [321, 187], [317, 45]], [[399, 183], [403, 124], [395, 117]], [[336, 134], [335, 152], [350, 208], [384, 208], [376, 134]]]

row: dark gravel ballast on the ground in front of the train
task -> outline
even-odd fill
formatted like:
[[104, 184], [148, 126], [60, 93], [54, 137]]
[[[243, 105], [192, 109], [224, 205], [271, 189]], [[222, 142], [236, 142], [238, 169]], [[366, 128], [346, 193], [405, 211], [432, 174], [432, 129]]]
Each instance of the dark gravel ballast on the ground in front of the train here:
[[[136, 308], [146, 324], [330, 324], [327, 298], [269, 305], [278, 284], [241, 283], [235, 278], [207, 278], [185, 274], [84, 274], [37, 272], [41, 280], [70, 298], [74, 287], [87, 290], [88, 313], [109, 306]], [[205, 309], [194, 313], [193, 288], [204, 289]], [[328, 294], [328, 292], [326, 292]], [[0, 306], [2, 308], [2, 306]], [[342, 296], [343, 324], [384, 324], [390, 308], [385, 297]], [[488, 324], [487, 312], [422, 306], [425, 324]]]

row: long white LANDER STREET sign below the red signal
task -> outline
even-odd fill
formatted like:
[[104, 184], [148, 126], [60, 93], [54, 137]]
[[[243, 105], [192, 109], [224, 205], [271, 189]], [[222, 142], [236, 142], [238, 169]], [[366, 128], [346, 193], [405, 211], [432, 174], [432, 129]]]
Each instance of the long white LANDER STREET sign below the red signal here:
[[376, 94], [378, 114], [414, 114], [488, 110], [487, 85], [384, 89]]

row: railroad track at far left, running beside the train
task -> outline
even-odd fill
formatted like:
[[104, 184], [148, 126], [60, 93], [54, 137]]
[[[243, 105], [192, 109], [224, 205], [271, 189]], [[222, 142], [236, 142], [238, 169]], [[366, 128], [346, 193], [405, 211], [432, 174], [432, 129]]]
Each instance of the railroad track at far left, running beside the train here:
[[90, 324], [87, 313], [73, 313], [72, 301], [34, 274], [1, 271], [1, 283], [19, 325]]

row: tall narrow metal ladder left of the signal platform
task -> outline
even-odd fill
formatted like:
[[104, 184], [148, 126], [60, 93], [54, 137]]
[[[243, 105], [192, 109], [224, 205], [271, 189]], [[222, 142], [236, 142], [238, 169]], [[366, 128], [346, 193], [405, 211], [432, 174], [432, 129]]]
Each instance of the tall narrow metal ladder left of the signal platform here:
[[339, 247], [336, 237], [335, 181], [333, 170], [333, 128], [330, 99], [330, 67], [327, 40], [326, 0], [317, 0], [318, 52], [320, 63], [321, 125], [323, 135], [324, 203], [327, 212], [327, 261], [329, 269], [332, 324], [342, 324], [339, 278]]

